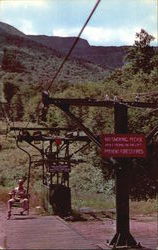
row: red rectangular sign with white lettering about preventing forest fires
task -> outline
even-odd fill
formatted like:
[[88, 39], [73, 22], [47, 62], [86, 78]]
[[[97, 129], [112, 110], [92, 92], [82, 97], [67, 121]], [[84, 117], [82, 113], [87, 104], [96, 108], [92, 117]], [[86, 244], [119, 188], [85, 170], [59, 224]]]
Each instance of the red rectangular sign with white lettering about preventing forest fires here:
[[145, 158], [145, 136], [140, 134], [105, 134], [102, 136], [102, 156], [106, 158]]

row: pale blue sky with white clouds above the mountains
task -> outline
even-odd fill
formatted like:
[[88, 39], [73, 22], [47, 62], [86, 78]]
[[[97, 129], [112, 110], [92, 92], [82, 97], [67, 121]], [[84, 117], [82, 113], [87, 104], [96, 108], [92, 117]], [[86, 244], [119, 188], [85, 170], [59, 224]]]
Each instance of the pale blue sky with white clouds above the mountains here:
[[[77, 36], [97, 0], [0, 0], [0, 21], [25, 34]], [[81, 38], [95, 46], [133, 45], [145, 29], [156, 39], [158, 0], [101, 0]]]

